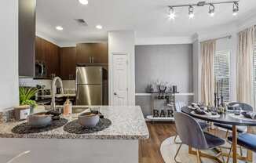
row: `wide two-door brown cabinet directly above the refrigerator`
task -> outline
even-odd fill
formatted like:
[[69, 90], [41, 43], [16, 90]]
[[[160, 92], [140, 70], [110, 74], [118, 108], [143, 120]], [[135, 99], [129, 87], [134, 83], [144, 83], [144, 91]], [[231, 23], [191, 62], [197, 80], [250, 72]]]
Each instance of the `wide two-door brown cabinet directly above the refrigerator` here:
[[76, 45], [76, 63], [108, 63], [108, 43]]

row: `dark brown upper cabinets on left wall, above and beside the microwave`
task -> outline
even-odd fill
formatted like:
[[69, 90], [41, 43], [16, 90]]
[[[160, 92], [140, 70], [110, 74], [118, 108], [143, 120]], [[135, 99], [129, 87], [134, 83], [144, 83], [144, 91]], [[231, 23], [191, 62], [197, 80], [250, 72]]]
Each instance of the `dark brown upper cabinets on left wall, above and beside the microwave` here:
[[35, 61], [46, 64], [46, 78], [60, 76], [60, 47], [43, 38], [35, 38]]

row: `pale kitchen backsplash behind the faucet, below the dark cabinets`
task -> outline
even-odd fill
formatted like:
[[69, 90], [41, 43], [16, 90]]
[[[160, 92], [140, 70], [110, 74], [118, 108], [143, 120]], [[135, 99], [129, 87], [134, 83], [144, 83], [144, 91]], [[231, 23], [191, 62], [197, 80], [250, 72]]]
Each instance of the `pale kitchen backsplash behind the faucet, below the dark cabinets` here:
[[[64, 89], [75, 89], [75, 80], [63, 80]], [[20, 78], [19, 84], [22, 86], [35, 87], [36, 85], [46, 85], [46, 89], [51, 89], [52, 80], [34, 80], [33, 78]]]

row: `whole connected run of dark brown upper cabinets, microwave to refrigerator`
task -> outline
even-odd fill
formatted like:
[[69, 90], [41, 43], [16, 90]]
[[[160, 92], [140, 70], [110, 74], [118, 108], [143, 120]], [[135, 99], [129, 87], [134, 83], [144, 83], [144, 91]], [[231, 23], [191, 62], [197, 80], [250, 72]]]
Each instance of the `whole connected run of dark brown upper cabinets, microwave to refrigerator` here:
[[77, 63], [108, 63], [108, 43], [82, 43], [60, 48], [43, 38], [35, 38], [35, 61], [46, 64], [46, 78], [52, 74], [75, 80]]

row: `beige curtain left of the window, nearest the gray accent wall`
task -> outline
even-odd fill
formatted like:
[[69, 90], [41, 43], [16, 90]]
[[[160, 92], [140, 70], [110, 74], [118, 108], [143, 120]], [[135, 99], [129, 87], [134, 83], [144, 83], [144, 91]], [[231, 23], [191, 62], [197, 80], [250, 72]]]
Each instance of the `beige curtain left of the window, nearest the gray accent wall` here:
[[216, 40], [201, 42], [201, 100], [214, 105], [214, 54]]

